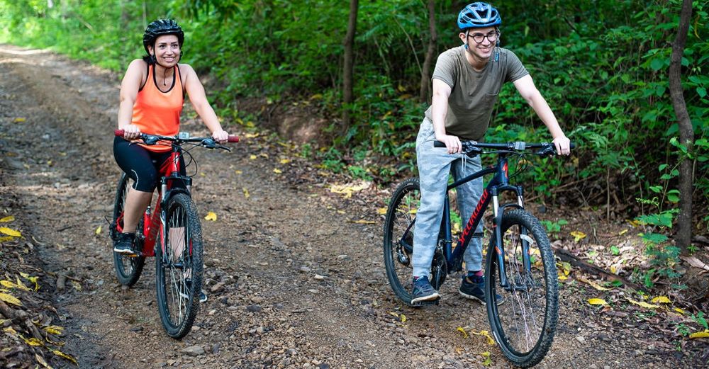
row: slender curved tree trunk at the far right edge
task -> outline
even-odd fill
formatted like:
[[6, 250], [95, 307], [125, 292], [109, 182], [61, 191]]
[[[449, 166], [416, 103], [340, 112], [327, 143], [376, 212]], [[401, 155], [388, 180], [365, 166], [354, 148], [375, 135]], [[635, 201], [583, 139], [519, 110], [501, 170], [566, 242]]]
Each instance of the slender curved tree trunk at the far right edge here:
[[[682, 1], [682, 10], [679, 16], [679, 29], [677, 37], [672, 44], [672, 55], [669, 63], [669, 92], [672, 96], [672, 106], [679, 124], [679, 141], [692, 151], [694, 144], [694, 131], [689, 119], [687, 106], [684, 102], [682, 90], [682, 54], [687, 42], [689, 19], [692, 16], [692, 0]], [[682, 249], [682, 254], [687, 253], [687, 247], [692, 239], [692, 160], [680, 156], [679, 164], [679, 216], [677, 217], [677, 236], [675, 242]]]

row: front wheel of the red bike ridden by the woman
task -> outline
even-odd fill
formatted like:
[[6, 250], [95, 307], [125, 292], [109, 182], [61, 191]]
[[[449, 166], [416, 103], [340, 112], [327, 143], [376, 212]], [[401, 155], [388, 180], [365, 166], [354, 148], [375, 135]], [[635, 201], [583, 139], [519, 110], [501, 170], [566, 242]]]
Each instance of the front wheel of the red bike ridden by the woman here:
[[202, 288], [202, 230], [197, 210], [184, 193], [167, 203], [164, 243], [155, 254], [157, 307], [167, 334], [189, 333], [199, 310]]

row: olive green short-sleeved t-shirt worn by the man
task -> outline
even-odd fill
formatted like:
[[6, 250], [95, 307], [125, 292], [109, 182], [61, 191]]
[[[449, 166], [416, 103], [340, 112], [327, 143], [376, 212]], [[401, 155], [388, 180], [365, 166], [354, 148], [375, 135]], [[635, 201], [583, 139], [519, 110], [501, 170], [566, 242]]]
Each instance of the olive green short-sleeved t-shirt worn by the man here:
[[[502, 84], [527, 74], [529, 72], [517, 55], [502, 47], [493, 50], [490, 61], [481, 72], [467, 62], [462, 45], [442, 52], [432, 79], [444, 81], [451, 89], [445, 117], [446, 134], [463, 140], [481, 140], [490, 124]], [[425, 114], [433, 121], [430, 106]]]

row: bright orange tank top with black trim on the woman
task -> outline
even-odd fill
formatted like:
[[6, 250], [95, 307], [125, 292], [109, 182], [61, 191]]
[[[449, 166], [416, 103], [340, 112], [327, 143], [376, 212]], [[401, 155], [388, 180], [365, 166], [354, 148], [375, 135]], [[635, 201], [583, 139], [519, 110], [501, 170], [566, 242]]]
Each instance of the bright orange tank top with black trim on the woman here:
[[[138, 91], [138, 97], [133, 104], [133, 124], [140, 132], [148, 135], [174, 136], [179, 132], [179, 115], [184, 104], [184, 89], [179, 74], [179, 67], [174, 67], [172, 86], [163, 92], [157, 88], [155, 80], [155, 65], [147, 67], [145, 85]], [[147, 146], [140, 144], [152, 152], [167, 152], [169, 145]]]

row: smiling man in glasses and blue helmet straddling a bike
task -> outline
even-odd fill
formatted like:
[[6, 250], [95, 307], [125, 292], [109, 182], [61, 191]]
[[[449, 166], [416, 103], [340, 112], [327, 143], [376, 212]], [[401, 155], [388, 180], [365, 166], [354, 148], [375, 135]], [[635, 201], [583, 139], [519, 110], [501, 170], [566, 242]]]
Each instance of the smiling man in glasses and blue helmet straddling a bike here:
[[[501, 23], [500, 14], [490, 4], [469, 4], [458, 15], [463, 45], [443, 52], [436, 62], [432, 104], [416, 138], [421, 203], [413, 234], [412, 303], [440, 297], [428, 276], [443, 216], [448, 175], [457, 179], [481, 170], [479, 156], [463, 160], [460, 142], [483, 139], [503, 83], [512, 82], [535, 110], [552, 134], [557, 152], [570, 153], [569, 139], [529, 72], [513, 52], [499, 46]], [[444, 142], [446, 147], [433, 147], [435, 140]], [[469, 219], [482, 192], [482, 178], [457, 188], [462, 219]], [[482, 222], [463, 256], [467, 273], [459, 293], [485, 304], [481, 234]]]

